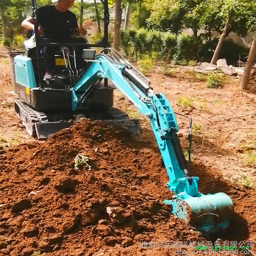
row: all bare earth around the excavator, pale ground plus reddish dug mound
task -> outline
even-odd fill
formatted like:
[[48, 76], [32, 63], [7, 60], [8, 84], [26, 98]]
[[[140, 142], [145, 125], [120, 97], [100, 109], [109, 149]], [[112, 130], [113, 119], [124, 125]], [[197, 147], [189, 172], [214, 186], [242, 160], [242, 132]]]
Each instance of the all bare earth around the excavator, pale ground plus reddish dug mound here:
[[[255, 143], [255, 95], [241, 94], [235, 87], [238, 79], [210, 90], [189, 72], [176, 71], [170, 78], [155, 68], [151, 81], [176, 112], [190, 114], [201, 125], [194, 136], [191, 175], [200, 177], [200, 192], [224, 192], [234, 202], [229, 231], [214, 241], [255, 241], [256, 192], [242, 183], [255, 177], [255, 167], [243, 160], [245, 144]], [[6, 93], [11, 90], [8, 63], [1, 72], [0, 255], [171, 256], [177, 249], [157, 243], [207, 242], [162, 203], [172, 193], [146, 118], [140, 118], [143, 134], [138, 138], [83, 120], [38, 142], [26, 135], [12, 110], [15, 97]], [[192, 106], [176, 106], [184, 96], [193, 99]], [[138, 116], [119, 91], [115, 99], [116, 108]], [[229, 117], [238, 118], [223, 120]], [[178, 123], [186, 147], [187, 120]], [[88, 157], [91, 168], [75, 168], [79, 153]], [[142, 241], [155, 246], [141, 248]]]

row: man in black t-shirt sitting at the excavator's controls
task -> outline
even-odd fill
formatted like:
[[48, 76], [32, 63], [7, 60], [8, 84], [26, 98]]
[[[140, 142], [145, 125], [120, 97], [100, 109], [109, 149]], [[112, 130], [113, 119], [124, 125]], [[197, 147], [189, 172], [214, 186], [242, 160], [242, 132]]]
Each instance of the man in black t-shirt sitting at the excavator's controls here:
[[[37, 19], [40, 27], [39, 34], [46, 41], [63, 42], [63, 43], [82, 43], [86, 44], [86, 39], [82, 37], [71, 37], [73, 33], [76, 35], [86, 34], [86, 30], [79, 28], [76, 16], [68, 9], [71, 8], [75, 0], [58, 0], [55, 5], [49, 5], [38, 9]], [[28, 17], [22, 22], [22, 27], [27, 30], [34, 30], [34, 20]], [[82, 51], [85, 47], [77, 47], [78, 58], [77, 66], [79, 68], [82, 61]], [[44, 80], [53, 79], [55, 58], [54, 53], [57, 47], [45, 46], [43, 48], [45, 75]], [[80, 60], [80, 61], [79, 61]]]

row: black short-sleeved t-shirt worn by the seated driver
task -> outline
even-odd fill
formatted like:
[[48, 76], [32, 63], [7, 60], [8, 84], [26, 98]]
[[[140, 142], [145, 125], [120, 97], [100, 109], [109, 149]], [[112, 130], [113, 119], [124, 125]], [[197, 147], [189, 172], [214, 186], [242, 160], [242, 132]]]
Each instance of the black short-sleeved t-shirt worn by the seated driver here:
[[78, 27], [73, 12], [69, 10], [58, 11], [55, 5], [39, 8], [37, 18], [42, 27], [44, 38], [66, 39], [72, 35], [72, 30]]

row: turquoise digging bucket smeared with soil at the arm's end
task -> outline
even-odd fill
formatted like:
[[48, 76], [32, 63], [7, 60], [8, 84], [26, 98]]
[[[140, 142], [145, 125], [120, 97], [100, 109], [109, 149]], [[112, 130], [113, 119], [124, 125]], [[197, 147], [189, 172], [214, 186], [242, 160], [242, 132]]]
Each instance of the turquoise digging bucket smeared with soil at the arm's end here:
[[164, 200], [172, 205], [172, 213], [184, 219], [205, 237], [225, 231], [233, 213], [231, 198], [225, 193], [188, 197], [186, 199]]

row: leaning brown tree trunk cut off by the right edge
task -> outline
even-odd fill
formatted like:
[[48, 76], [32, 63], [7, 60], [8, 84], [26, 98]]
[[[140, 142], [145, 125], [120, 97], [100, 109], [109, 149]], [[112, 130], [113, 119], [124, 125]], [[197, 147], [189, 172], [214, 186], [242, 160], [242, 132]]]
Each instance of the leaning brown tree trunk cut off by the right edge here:
[[252, 65], [253, 61], [255, 59], [255, 54], [256, 54], [256, 34], [254, 35], [253, 41], [252, 41], [252, 46], [245, 64], [245, 69], [244, 69], [244, 74], [242, 76], [242, 80], [240, 83], [240, 88], [241, 89], [247, 89], [247, 85], [249, 82], [249, 77], [251, 74], [252, 70]]

